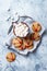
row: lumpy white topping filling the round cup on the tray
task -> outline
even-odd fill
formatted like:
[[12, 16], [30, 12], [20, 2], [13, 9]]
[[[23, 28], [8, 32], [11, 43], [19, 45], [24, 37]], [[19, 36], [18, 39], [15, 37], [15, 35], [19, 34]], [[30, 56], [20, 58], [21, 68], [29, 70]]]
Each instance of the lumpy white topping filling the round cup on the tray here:
[[15, 34], [20, 37], [25, 37], [28, 34], [28, 26], [25, 23], [15, 24]]

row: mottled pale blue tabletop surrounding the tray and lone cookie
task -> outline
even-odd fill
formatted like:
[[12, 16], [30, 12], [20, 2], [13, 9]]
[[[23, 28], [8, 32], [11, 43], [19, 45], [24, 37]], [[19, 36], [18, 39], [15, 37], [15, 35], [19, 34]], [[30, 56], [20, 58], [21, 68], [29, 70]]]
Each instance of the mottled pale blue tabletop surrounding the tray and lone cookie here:
[[[11, 11], [8, 13], [8, 9]], [[3, 45], [11, 25], [7, 19], [13, 13], [30, 15], [42, 23], [46, 32], [38, 48], [27, 56], [16, 54], [14, 62], [8, 62], [9, 51]], [[0, 71], [47, 71], [47, 0], [0, 0]]]

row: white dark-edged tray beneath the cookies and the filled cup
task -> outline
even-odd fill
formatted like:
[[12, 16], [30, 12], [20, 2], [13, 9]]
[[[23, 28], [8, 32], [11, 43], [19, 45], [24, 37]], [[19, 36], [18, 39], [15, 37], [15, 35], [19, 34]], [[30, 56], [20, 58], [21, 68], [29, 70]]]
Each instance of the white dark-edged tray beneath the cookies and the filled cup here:
[[[34, 19], [32, 19], [31, 16], [27, 16], [27, 15], [25, 15], [25, 16], [20, 16], [19, 20], [17, 20], [17, 22], [25, 22], [30, 27], [31, 27], [31, 24], [32, 24], [34, 21], [35, 21]], [[40, 25], [42, 25], [42, 24], [40, 24]], [[45, 32], [45, 27], [42, 25], [42, 31], [39, 32], [39, 35], [42, 36], [44, 32]], [[15, 37], [15, 36], [14, 36], [14, 35], [11, 35], [11, 38], [9, 39], [9, 43], [11, 42], [11, 39], [12, 39], [13, 37]], [[42, 36], [42, 37], [43, 37], [43, 36]], [[33, 47], [32, 49], [19, 50], [19, 49], [16, 49], [14, 46], [11, 46], [10, 48], [14, 49], [14, 50], [17, 51], [19, 54], [27, 55], [28, 52], [33, 52], [33, 51], [37, 48], [37, 46], [38, 46], [39, 43], [40, 43], [40, 40], [34, 42], [34, 47]]]

